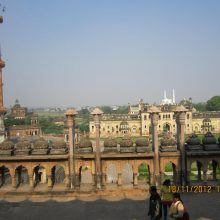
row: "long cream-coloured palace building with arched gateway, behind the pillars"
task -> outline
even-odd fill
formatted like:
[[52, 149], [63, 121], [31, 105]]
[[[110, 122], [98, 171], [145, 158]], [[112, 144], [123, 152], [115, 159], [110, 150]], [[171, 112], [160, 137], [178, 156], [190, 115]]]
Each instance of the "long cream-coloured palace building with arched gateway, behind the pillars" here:
[[[167, 101], [168, 100], [168, 101]], [[167, 99], [166, 96], [162, 100], [161, 105], [157, 107], [160, 109], [158, 132], [164, 131], [175, 133], [176, 116], [174, 104], [174, 97]], [[167, 104], [170, 103], [170, 104]], [[207, 131], [213, 133], [220, 133], [220, 112], [197, 112], [192, 105], [185, 106], [187, 109], [185, 115], [185, 133], [191, 134], [205, 134]], [[104, 114], [101, 119], [101, 137], [118, 136], [122, 137], [124, 134], [131, 136], [149, 136], [151, 133], [150, 114], [148, 110], [151, 105], [144, 104], [142, 100], [139, 105], [129, 106], [128, 114]], [[95, 136], [94, 121], [90, 119], [90, 137]]]

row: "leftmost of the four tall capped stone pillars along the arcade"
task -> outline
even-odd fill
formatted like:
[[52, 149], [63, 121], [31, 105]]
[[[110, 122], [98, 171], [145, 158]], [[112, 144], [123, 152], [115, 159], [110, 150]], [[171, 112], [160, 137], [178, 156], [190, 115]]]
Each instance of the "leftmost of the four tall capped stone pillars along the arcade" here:
[[67, 119], [67, 126], [69, 129], [69, 180], [70, 188], [75, 188], [76, 165], [75, 165], [75, 117], [77, 115], [75, 109], [69, 109], [65, 113]]

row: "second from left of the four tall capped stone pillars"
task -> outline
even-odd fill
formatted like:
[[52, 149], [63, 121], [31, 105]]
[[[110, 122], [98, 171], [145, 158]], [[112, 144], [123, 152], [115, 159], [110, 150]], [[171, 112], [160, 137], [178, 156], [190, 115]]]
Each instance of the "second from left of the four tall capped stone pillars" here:
[[93, 116], [96, 127], [96, 153], [95, 153], [95, 171], [96, 171], [96, 188], [101, 188], [101, 155], [100, 155], [100, 119], [103, 112], [95, 108], [91, 115]]

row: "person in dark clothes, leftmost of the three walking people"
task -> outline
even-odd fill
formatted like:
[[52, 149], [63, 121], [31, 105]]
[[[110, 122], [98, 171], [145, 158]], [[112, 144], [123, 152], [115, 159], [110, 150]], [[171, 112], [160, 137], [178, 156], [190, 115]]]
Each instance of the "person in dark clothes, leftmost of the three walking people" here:
[[161, 207], [161, 198], [157, 193], [156, 186], [150, 187], [150, 203], [149, 203], [149, 211], [148, 216], [150, 216], [151, 220], [159, 220], [162, 216], [162, 207]]

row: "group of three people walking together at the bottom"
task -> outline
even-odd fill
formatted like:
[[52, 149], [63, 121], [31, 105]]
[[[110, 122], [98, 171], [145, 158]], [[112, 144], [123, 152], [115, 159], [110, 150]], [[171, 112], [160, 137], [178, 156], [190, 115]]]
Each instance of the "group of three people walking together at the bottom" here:
[[165, 180], [161, 187], [160, 194], [157, 193], [156, 186], [150, 187], [150, 203], [148, 216], [151, 220], [185, 220], [189, 219], [189, 215], [185, 209], [183, 201], [179, 193], [172, 193], [170, 191], [171, 182], [169, 179]]

